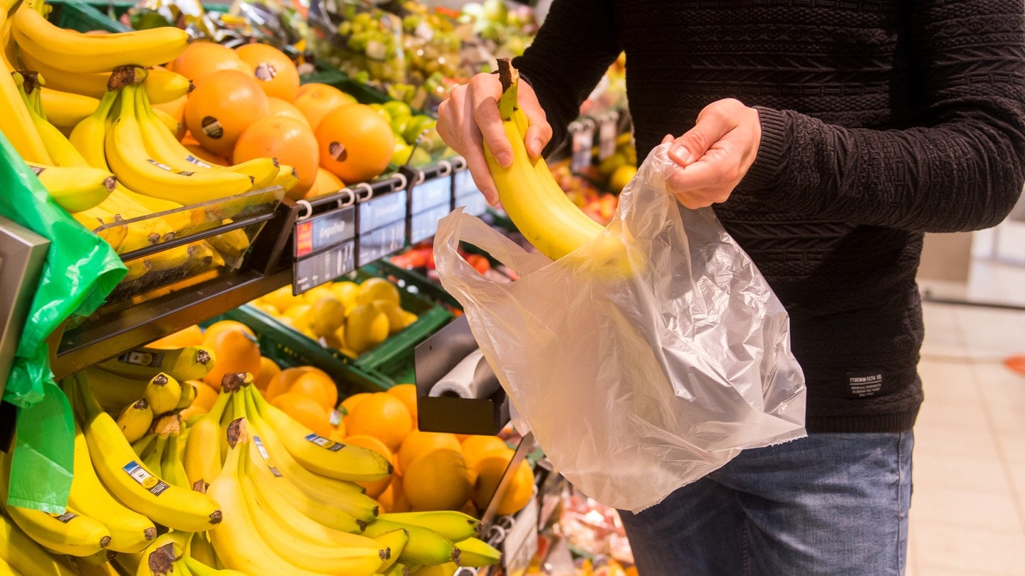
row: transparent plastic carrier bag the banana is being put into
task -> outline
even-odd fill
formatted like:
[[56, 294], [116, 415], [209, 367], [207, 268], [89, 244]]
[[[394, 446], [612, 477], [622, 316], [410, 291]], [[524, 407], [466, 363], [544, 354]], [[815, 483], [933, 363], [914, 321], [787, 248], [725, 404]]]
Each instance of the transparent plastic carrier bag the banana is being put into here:
[[[665, 192], [666, 150], [641, 165], [606, 232], [557, 261], [461, 209], [435, 237], [443, 286], [545, 455], [583, 493], [633, 511], [741, 449], [805, 436], [789, 318], [712, 210]], [[603, 278], [580, 253], [620, 227], [646, 262]], [[460, 242], [520, 280], [486, 279]]]

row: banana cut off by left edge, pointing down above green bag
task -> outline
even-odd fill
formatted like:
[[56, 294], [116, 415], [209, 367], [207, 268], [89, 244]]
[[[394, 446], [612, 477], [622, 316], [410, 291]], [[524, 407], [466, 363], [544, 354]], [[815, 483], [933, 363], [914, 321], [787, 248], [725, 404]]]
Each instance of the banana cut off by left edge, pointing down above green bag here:
[[14, 71], [13, 60], [9, 57], [10, 42], [8, 41], [12, 23], [7, 12], [12, 5], [13, 2], [10, 0], [3, 0], [0, 3], [0, 54], [2, 54], [3, 59], [0, 63], [0, 115], [4, 119], [0, 130], [25, 160], [40, 164], [52, 164], [53, 161], [46, 152], [46, 147], [29, 115], [29, 108], [10, 75]]

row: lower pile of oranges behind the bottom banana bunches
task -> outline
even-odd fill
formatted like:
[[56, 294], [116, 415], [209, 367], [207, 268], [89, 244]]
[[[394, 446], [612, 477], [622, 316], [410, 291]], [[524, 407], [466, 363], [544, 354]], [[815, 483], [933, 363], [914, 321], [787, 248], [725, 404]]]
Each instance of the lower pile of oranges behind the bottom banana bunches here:
[[[395, 468], [391, 478], [364, 483], [383, 511], [462, 510], [480, 516], [491, 501], [515, 450], [497, 436], [464, 436], [420, 430], [416, 385], [400, 383], [380, 392], [339, 399], [330, 374], [314, 366], [281, 368], [260, 355], [252, 330], [221, 320], [151, 343], [153, 346], [203, 344], [214, 351], [215, 368], [192, 382], [199, 394], [183, 418], [209, 410], [225, 372], [251, 372], [268, 402], [317, 435], [375, 450]], [[339, 401], [340, 400], [340, 401]], [[534, 472], [520, 463], [497, 506], [499, 515], [522, 509], [534, 494]]]

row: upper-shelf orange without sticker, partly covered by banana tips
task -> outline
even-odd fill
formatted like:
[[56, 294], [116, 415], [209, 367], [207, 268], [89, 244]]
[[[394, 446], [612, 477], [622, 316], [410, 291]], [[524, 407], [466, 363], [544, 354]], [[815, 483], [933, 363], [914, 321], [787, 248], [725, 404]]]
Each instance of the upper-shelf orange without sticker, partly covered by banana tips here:
[[232, 162], [277, 158], [279, 163], [294, 167], [299, 181], [288, 195], [298, 200], [317, 178], [318, 154], [317, 138], [310, 126], [294, 118], [266, 116], [242, 130], [235, 142]]

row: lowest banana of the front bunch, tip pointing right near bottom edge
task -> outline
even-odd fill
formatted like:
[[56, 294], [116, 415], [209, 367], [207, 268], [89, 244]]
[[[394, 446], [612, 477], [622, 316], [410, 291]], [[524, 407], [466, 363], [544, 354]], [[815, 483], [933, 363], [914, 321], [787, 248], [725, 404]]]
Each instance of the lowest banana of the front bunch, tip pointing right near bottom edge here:
[[[253, 450], [249, 449], [239, 457], [246, 460], [252, 453]], [[369, 576], [380, 568], [382, 562], [391, 559], [387, 546], [382, 546], [371, 538], [366, 538], [366, 544], [363, 545], [337, 545], [299, 537], [292, 531], [276, 525], [262, 508], [254, 508], [252, 500], [244, 498], [244, 501], [253, 527], [264, 537], [263, 540], [271, 549], [299, 568], [328, 574]], [[324, 501], [329, 500], [325, 498]]]

